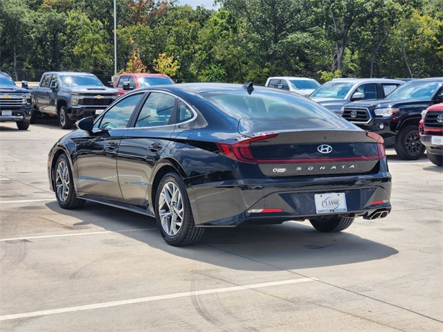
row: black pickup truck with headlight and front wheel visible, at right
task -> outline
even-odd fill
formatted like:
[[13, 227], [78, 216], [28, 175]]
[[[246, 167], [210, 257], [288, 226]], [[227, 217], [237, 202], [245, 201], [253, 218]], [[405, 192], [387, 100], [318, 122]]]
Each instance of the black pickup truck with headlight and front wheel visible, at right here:
[[417, 160], [425, 151], [418, 133], [422, 111], [442, 101], [443, 77], [424, 78], [402, 84], [384, 99], [350, 102], [341, 116], [381, 135], [400, 158]]

